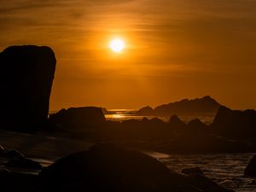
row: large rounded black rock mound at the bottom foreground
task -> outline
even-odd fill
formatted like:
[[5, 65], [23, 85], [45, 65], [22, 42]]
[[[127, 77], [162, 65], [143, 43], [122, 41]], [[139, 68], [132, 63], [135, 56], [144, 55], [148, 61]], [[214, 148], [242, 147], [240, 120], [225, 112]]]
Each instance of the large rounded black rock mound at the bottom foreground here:
[[39, 173], [41, 190], [90, 192], [229, 191], [210, 179], [170, 171], [158, 160], [113, 144], [70, 154]]

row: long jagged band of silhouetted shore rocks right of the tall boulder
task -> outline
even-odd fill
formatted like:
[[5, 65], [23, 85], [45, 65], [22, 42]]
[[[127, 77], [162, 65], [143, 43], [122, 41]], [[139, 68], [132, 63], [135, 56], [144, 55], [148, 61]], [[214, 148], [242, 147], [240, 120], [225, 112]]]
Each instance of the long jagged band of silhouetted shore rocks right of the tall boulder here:
[[[73, 137], [90, 137], [103, 142], [145, 143], [146, 148], [169, 152], [249, 152], [255, 144], [245, 139], [256, 138], [256, 112], [220, 107], [211, 125], [200, 119], [185, 124], [177, 115], [168, 123], [161, 119], [128, 119], [106, 121], [101, 108], [69, 108], [49, 117], [51, 125], [71, 131]], [[150, 146], [150, 147], [149, 147]]]

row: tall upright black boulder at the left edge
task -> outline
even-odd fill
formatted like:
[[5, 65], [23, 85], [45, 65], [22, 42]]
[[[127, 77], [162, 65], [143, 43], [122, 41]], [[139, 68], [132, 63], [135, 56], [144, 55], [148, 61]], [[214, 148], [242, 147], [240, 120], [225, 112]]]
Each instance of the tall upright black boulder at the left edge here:
[[1, 129], [35, 131], [44, 124], [55, 63], [49, 47], [12, 46], [0, 53]]

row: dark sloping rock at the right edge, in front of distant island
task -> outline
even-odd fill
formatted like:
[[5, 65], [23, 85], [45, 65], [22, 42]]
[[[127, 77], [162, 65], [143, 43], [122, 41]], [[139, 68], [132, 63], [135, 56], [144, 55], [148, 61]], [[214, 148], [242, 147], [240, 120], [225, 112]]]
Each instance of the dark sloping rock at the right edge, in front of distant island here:
[[230, 138], [256, 137], [256, 111], [231, 110], [221, 107], [212, 122], [211, 128], [216, 134]]

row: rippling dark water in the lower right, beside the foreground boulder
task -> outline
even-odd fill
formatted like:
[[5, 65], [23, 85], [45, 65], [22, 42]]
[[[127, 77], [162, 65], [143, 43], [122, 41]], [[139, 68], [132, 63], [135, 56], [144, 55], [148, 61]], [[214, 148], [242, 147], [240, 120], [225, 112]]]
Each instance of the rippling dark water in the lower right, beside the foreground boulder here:
[[149, 154], [173, 171], [197, 166], [207, 177], [227, 189], [256, 192], [256, 178], [243, 175], [253, 154]]

